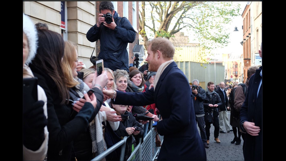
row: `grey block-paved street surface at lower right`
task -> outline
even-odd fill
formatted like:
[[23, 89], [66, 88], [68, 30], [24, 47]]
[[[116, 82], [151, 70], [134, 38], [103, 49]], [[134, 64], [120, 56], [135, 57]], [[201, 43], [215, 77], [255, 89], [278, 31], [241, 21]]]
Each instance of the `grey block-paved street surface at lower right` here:
[[[230, 112], [228, 111], [228, 117], [230, 117]], [[198, 128], [200, 133], [200, 129]], [[225, 126], [224, 126], [224, 131]], [[220, 143], [214, 141], [214, 126], [211, 124], [210, 127], [210, 148], [205, 148], [207, 152], [207, 160], [244, 160], [243, 157], [243, 139], [241, 139], [240, 145], [235, 145], [230, 143], [234, 138], [233, 132], [226, 134], [219, 133]]]

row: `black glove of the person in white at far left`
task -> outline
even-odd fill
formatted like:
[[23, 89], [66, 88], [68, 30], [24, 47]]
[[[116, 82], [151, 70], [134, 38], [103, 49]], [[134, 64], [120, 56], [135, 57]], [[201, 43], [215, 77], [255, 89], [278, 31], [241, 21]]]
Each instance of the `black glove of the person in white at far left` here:
[[43, 101], [37, 101], [30, 107], [23, 105], [23, 144], [33, 151], [38, 150], [45, 140], [44, 127], [48, 120], [43, 105]]

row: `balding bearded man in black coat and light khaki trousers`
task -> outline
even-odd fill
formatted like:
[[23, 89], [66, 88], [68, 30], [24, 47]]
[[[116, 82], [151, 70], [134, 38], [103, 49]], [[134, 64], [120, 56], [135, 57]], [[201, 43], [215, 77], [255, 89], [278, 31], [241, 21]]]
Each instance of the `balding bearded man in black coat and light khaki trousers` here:
[[219, 89], [215, 92], [219, 94], [220, 99], [222, 100], [222, 105], [219, 106], [219, 132], [226, 133], [224, 131], [224, 125], [227, 132], [233, 131], [229, 124], [229, 118], [227, 117], [226, 106], [229, 103], [229, 99], [227, 98], [226, 91], [224, 90], [225, 83], [219, 83]]

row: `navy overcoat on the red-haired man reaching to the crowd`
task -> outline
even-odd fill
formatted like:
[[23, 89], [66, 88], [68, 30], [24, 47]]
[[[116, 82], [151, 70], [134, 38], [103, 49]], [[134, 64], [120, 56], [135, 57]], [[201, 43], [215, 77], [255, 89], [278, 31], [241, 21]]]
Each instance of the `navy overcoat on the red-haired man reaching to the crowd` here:
[[172, 62], [161, 74], [155, 91], [154, 88], [143, 93], [117, 91], [115, 103], [156, 104], [163, 118], [157, 124], [157, 131], [164, 136], [157, 160], [207, 160], [192, 97], [188, 79]]

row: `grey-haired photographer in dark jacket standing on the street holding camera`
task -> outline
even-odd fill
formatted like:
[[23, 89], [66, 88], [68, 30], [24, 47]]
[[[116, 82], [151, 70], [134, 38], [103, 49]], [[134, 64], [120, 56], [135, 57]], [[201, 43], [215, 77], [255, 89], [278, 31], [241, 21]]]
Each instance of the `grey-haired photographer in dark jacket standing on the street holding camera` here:
[[196, 122], [200, 129], [200, 137], [204, 143], [205, 148], [209, 148], [207, 145], [207, 135], [205, 134], [205, 111], [203, 101], [205, 101], [206, 95], [205, 90], [200, 86], [198, 79], [192, 81], [192, 94], [193, 104], [196, 115]]

